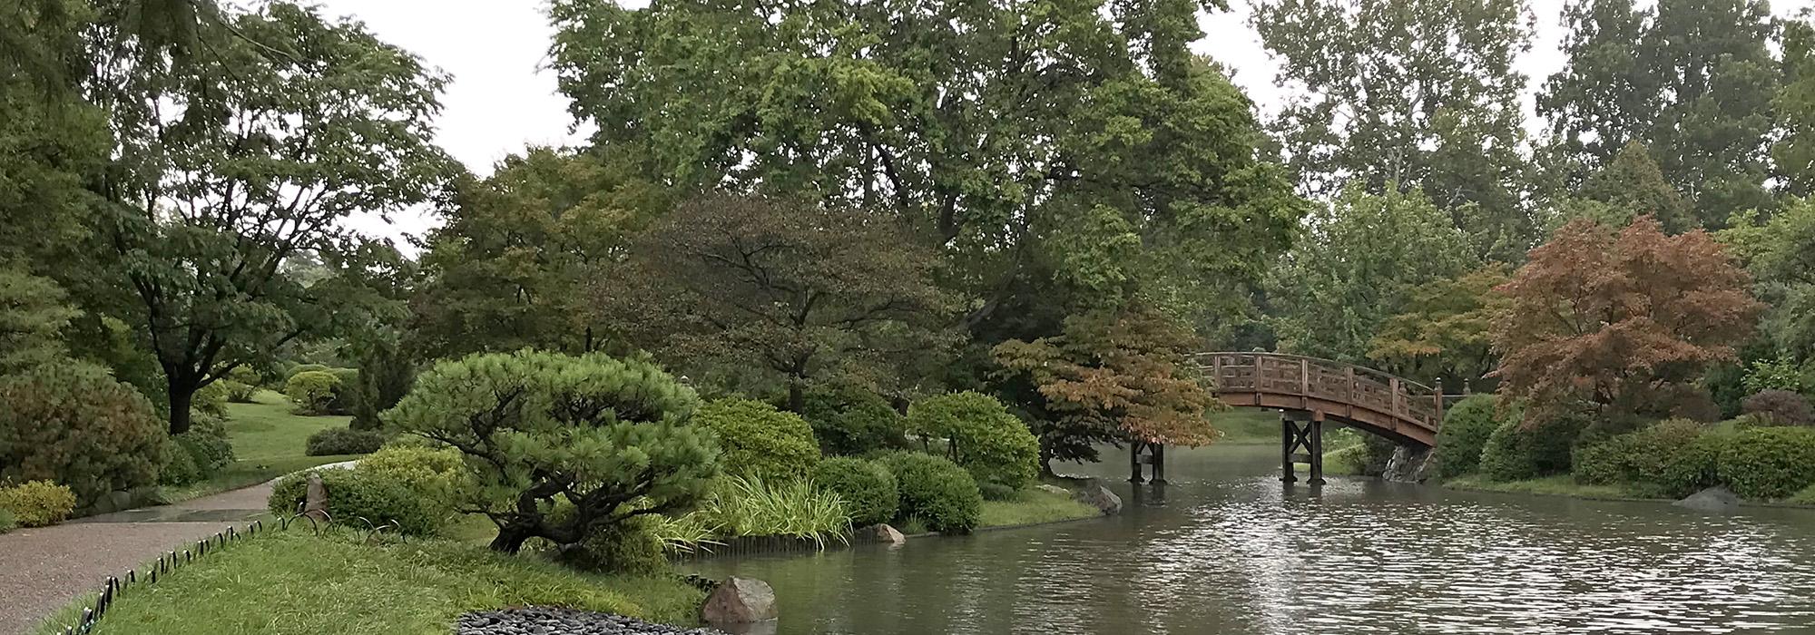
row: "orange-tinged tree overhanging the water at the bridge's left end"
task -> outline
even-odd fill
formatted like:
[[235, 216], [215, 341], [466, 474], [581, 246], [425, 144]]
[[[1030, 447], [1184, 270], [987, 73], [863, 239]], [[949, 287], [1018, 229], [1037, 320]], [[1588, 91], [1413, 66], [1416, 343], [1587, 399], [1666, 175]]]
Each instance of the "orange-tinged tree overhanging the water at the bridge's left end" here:
[[1205, 417], [1221, 403], [1191, 363], [1198, 337], [1153, 308], [1098, 310], [1065, 319], [1065, 332], [996, 345], [1004, 379], [1029, 381], [1040, 414], [1042, 472], [1051, 461], [1096, 461], [1098, 443], [1202, 446], [1216, 441]]

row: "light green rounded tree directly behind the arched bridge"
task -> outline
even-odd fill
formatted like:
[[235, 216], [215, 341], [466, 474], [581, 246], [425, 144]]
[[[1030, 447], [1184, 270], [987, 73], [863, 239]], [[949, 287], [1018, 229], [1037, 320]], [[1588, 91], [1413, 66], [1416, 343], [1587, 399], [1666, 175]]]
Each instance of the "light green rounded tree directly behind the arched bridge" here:
[[1280, 348], [1361, 363], [1410, 294], [1479, 263], [1468, 238], [1419, 190], [1350, 185], [1305, 223], [1307, 236], [1269, 279]]

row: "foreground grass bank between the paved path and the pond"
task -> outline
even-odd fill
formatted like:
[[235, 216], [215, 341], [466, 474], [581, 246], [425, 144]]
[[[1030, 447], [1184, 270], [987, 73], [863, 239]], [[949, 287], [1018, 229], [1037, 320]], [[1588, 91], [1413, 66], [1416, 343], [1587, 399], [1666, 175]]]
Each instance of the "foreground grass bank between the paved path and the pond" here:
[[[234, 542], [158, 584], [129, 588], [94, 633], [446, 635], [466, 611], [570, 606], [690, 624], [702, 595], [673, 577], [579, 573], [450, 541], [365, 544], [292, 528]], [[40, 626], [62, 633], [89, 599]]]

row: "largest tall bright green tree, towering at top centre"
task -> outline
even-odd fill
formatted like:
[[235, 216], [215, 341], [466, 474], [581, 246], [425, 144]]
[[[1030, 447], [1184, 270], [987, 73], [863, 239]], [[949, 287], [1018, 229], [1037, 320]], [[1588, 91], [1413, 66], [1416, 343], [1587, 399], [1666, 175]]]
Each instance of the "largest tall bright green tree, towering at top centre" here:
[[1058, 323], [1011, 305], [1207, 312], [1287, 247], [1303, 203], [1187, 49], [1211, 5], [557, 0], [552, 56], [594, 142], [652, 180], [889, 210], [978, 299], [975, 334], [1040, 337]]

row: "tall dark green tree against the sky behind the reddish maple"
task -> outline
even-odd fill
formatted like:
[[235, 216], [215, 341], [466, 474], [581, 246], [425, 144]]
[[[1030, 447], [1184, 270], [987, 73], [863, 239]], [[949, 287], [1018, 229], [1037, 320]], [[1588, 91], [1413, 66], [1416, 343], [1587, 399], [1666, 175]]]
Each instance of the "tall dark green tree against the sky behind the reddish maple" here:
[[1579, 0], [1563, 11], [1568, 65], [1537, 96], [1561, 154], [1584, 178], [1644, 143], [1701, 227], [1770, 207], [1766, 143], [1781, 82], [1764, 0]]

